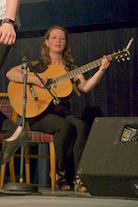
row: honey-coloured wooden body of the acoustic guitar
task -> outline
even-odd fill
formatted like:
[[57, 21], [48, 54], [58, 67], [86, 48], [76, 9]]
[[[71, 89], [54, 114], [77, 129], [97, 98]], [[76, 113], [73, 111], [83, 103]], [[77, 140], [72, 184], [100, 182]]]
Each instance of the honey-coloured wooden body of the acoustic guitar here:
[[[48, 79], [52, 78], [53, 80], [55, 80], [55, 83], [50, 85], [50, 87], [52, 88], [52, 90], [50, 91], [55, 97], [58, 97], [59, 99], [69, 98], [72, 94], [73, 86], [70, 80], [64, 81], [60, 84], [57, 84], [56, 82], [56, 78], [64, 74], [67, 74], [67, 72], [60, 65], [51, 66], [45, 72], [38, 73], [39, 76], [44, 76], [48, 77]], [[33, 72], [28, 73], [28, 75], [35, 76]], [[37, 94], [38, 100], [35, 100], [35, 98], [32, 96], [29, 84], [26, 85], [26, 118], [33, 118], [40, 115], [47, 109], [47, 107], [53, 100], [52, 95], [47, 89], [38, 87], [36, 85], [33, 85], [33, 88]], [[9, 82], [8, 96], [13, 108], [20, 116], [22, 116], [23, 114], [23, 89], [23, 83], [16, 83], [13, 81]]]

